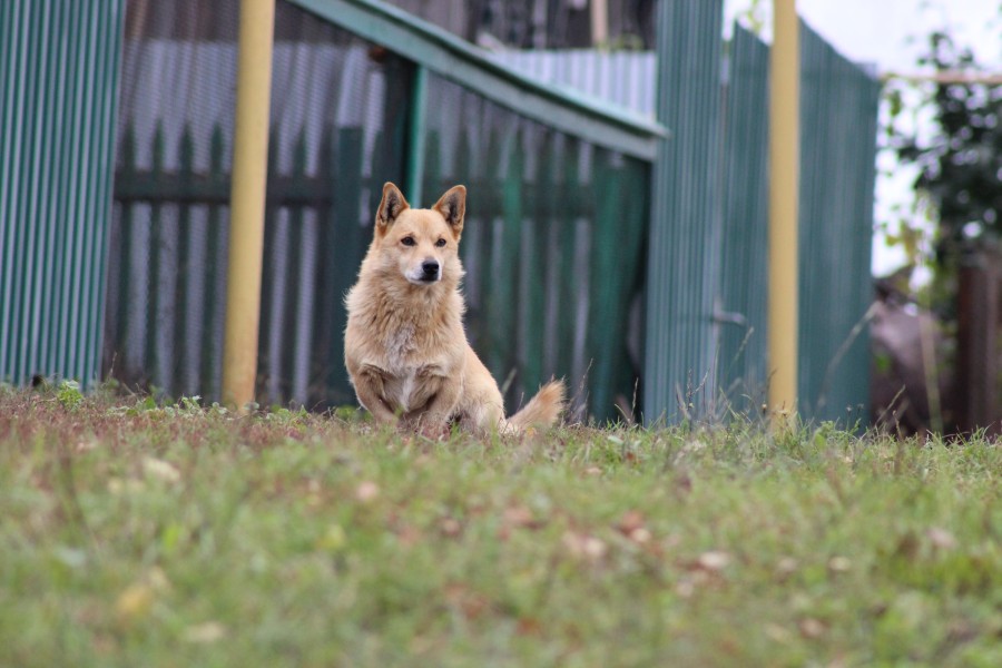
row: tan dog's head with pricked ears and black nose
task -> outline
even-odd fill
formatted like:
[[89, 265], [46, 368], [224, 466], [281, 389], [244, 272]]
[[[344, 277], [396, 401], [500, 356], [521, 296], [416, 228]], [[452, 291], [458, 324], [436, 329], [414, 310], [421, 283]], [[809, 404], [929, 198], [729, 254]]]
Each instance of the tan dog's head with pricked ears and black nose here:
[[466, 188], [450, 188], [430, 209], [411, 208], [400, 188], [387, 183], [376, 212], [373, 250], [383, 269], [394, 267], [413, 285], [459, 281], [459, 240], [466, 212]]

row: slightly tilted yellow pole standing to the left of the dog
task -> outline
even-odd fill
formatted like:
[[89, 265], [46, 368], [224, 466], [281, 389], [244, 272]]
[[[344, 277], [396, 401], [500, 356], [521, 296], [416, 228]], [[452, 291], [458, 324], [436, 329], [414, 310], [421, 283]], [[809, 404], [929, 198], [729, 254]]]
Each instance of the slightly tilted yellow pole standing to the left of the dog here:
[[223, 401], [239, 410], [254, 400], [257, 376], [274, 24], [275, 0], [240, 0], [223, 343]]

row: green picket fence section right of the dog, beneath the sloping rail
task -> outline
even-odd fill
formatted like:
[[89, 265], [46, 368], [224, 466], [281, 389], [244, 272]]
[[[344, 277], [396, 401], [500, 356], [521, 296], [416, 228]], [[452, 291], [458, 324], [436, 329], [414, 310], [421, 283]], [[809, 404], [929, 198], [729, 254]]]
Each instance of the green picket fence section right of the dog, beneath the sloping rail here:
[[649, 202], [646, 161], [525, 120], [433, 77], [424, 187], [433, 200], [466, 184], [468, 332], [508, 404], [566, 377], [577, 407], [600, 419], [632, 410]]

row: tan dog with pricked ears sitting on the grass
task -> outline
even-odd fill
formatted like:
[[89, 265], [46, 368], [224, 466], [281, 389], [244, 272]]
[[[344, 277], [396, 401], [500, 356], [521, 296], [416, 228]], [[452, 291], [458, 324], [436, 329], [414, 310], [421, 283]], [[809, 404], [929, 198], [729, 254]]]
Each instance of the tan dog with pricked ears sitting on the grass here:
[[426, 433], [452, 422], [503, 432], [550, 425], [563, 409], [563, 383], [548, 383], [505, 420], [498, 383], [466, 342], [465, 210], [463, 186], [430, 209], [413, 209], [396, 186], [383, 186], [372, 245], [345, 299], [344, 361], [358, 402], [379, 422]]

